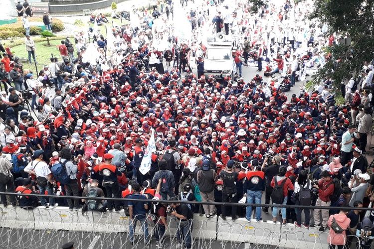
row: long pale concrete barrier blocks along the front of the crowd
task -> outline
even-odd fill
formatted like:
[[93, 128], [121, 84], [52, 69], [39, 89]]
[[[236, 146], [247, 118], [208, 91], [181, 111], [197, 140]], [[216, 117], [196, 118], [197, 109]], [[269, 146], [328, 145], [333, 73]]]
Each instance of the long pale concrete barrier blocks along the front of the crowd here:
[[[22, 231], [76, 231], [98, 234], [129, 233], [129, 217], [124, 212], [87, 212], [69, 211], [68, 207], [44, 209], [38, 207], [33, 210], [24, 210], [19, 207], [0, 207], [0, 227]], [[178, 220], [168, 218], [166, 237], [176, 240]], [[149, 224], [149, 233], [155, 229], [152, 222]], [[141, 226], [138, 224], [135, 235], [141, 235]], [[253, 244], [256, 246], [274, 246], [281, 248], [314, 248], [326, 249], [328, 232], [320, 233], [317, 229], [296, 228], [294, 224], [282, 226], [271, 221], [262, 223], [248, 223], [246, 219], [239, 218], [231, 221], [230, 217], [222, 220], [214, 216], [209, 219], [195, 214], [193, 217], [192, 238], [195, 243], [207, 244], [213, 241], [220, 245], [227, 243]], [[4, 238], [2, 238], [4, 239]]]

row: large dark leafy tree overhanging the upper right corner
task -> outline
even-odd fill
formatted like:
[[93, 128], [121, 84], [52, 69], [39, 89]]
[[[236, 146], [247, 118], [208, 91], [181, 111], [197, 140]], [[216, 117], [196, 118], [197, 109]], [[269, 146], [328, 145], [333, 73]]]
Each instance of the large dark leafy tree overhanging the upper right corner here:
[[[336, 86], [359, 74], [364, 62], [374, 57], [374, 0], [315, 0], [310, 19], [329, 26], [329, 35], [338, 34], [339, 44], [325, 48], [331, 60], [314, 76], [314, 80], [331, 77]], [[345, 44], [341, 38], [351, 37]]]

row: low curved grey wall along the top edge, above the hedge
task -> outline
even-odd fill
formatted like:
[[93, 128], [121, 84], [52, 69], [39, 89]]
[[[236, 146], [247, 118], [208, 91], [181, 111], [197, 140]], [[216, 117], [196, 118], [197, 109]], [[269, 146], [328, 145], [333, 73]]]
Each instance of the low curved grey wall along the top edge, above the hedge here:
[[[114, 0], [115, 2], [123, 2], [126, 0]], [[53, 4], [50, 2], [49, 4], [49, 12], [77, 12], [82, 11], [83, 9], [97, 9], [97, 8], [106, 8], [112, 4], [113, 0], [100, 0], [100, 1], [92, 1], [90, 3], [71, 3], [71, 4]], [[129, 6], [131, 7], [131, 6]]]

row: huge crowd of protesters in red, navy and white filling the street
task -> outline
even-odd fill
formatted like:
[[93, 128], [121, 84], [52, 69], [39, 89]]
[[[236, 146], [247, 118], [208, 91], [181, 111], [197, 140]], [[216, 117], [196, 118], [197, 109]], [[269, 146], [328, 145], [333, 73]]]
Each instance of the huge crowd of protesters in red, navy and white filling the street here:
[[[269, 3], [257, 15], [242, 1], [235, 7], [224, 1], [181, 3], [186, 6], [167, 0], [155, 1], [151, 11], [132, 10], [130, 23], [114, 27], [106, 38], [89, 30], [93, 43], [84, 32], [74, 41], [67, 37], [58, 46], [62, 61], [51, 58], [37, 75], [4, 51], [0, 78], [9, 87], [0, 100], [0, 191], [124, 201], [65, 203], [1, 195], [2, 204], [67, 205], [83, 212], [125, 209], [133, 243], [137, 221], [150, 242], [143, 225], [151, 212], [160, 247], [167, 219], [175, 216], [181, 221], [179, 247], [186, 248], [191, 248], [194, 213], [259, 223], [269, 212], [268, 207], [222, 208], [201, 201], [297, 205], [273, 207], [272, 221], [280, 215], [283, 225], [330, 228], [332, 248], [352, 243], [348, 235], [370, 248], [374, 216], [365, 218], [355, 207], [374, 201], [366, 157], [372, 62], [363, 62], [361, 78], [342, 82], [344, 105], [336, 105], [331, 79], [314, 91], [287, 96], [297, 80], [331, 59], [323, 46], [339, 42], [326, 25], [306, 18], [309, 1]], [[189, 39], [177, 36], [173, 27], [178, 9], [190, 25]], [[101, 17], [91, 19], [97, 23]], [[234, 77], [204, 75], [204, 30], [234, 37]], [[267, 62], [264, 73], [262, 61]], [[241, 77], [242, 66], [251, 63], [259, 72]], [[156, 151], [143, 174], [139, 169], [151, 136]], [[194, 202], [165, 205], [163, 199]], [[326, 206], [335, 209], [322, 209]]]

